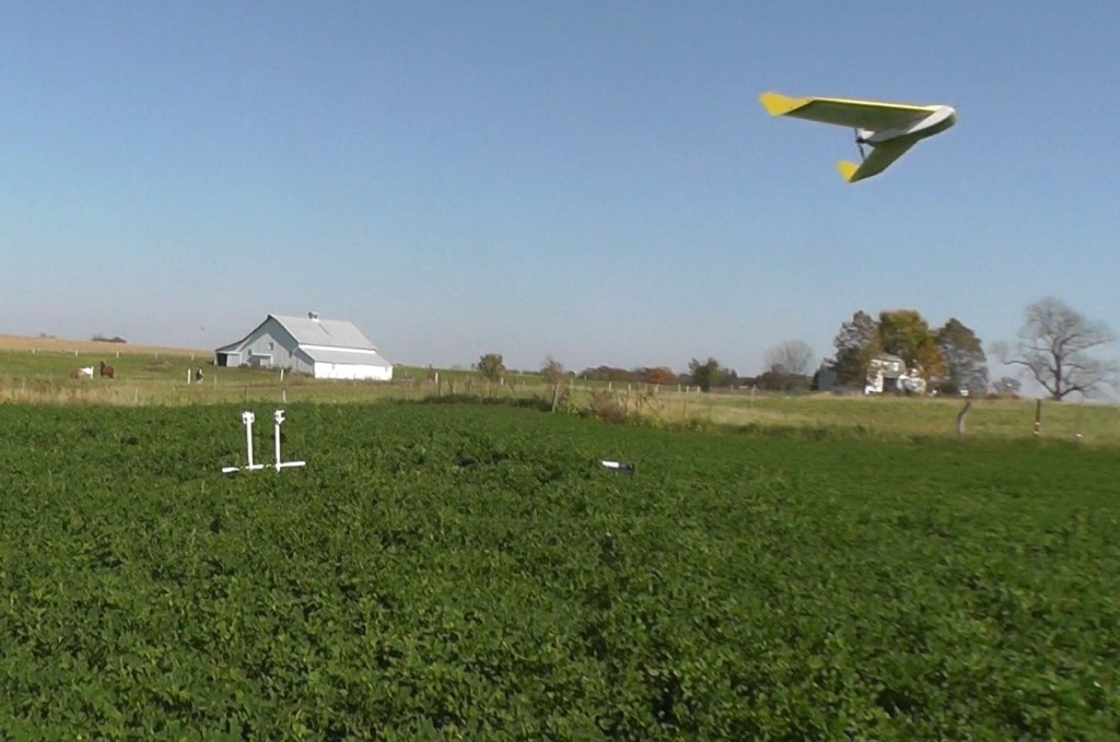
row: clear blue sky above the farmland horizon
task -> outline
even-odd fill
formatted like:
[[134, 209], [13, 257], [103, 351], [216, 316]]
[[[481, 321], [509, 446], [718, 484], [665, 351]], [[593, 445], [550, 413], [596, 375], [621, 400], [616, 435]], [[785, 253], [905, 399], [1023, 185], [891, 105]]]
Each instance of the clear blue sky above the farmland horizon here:
[[[1120, 330], [1118, 45], [1108, 0], [2, 1], [0, 332], [754, 375], [857, 310]], [[847, 185], [768, 90], [959, 123]]]

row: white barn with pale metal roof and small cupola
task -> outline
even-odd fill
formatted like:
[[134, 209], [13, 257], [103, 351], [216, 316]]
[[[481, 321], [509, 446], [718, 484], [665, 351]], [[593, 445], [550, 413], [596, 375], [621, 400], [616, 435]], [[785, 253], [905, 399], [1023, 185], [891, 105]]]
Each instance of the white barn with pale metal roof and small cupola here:
[[215, 366], [288, 368], [315, 378], [393, 378], [393, 365], [353, 322], [269, 314], [255, 330], [214, 351]]

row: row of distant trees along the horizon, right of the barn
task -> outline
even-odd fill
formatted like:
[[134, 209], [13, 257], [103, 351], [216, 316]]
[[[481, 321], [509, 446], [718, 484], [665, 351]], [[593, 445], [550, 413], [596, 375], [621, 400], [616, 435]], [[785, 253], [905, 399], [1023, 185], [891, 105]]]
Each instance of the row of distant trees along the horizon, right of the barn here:
[[[1105, 325], [1086, 319], [1057, 299], [1046, 298], [1026, 308], [1015, 342], [995, 342], [989, 349], [1001, 364], [1017, 367], [1023, 377], [1060, 402], [1070, 395], [1091, 397], [1118, 386], [1120, 365], [1095, 355], [1101, 346], [1114, 339]], [[681, 384], [704, 392], [726, 387], [783, 392], [825, 386], [862, 389], [872, 359], [894, 356], [908, 372], [921, 376], [927, 389], [940, 393], [974, 396], [990, 392], [1014, 394], [1021, 388], [1021, 382], [1011, 376], [995, 382], [989, 378], [988, 354], [981, 339], [955, 317], [933, 327], [915, 309], [881, 311], [878, 317], [859, 310], [841, 323], [832, 344], [834, 354], [814, 369], [809, 344], [782, 342], [766, 351], [764, 369], [754, 377], [740, 376], [715, 357], [692, 358], [683, 374], [674, 374], [668, 366], [633, 369], [598, 366], [573, 374], [549, 357], [541, 373], [554, 389], [570, 376], [615, 383]], [[483, 355], [475, 368], [492, 382], [505, 370], [500, 354]]]

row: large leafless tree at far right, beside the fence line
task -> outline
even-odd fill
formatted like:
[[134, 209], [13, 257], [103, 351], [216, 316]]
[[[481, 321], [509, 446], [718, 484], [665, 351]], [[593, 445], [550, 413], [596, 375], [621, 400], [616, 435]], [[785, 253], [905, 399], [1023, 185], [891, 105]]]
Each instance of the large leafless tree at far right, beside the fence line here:
[[1006, 342], [996, 344], [992, 351], [1007, 365], [1023, 366], [1052, 400], [1061, 402], [1074, 393], [1088, 397], [1116, 385], [1117, 361], [1089, 354], [1116, 339], [1108, 327], [1049, 298], [1027, 307], [1025, 320], [1014, 351]]

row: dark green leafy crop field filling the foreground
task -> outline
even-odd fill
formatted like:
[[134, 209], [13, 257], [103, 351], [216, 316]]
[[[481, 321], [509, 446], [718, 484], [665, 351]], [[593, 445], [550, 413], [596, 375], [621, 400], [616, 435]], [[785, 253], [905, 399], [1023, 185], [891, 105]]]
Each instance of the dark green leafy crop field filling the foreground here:
[[245, 406], [0, 404], [0, 738], [1120, 735], [1111, 445]]

